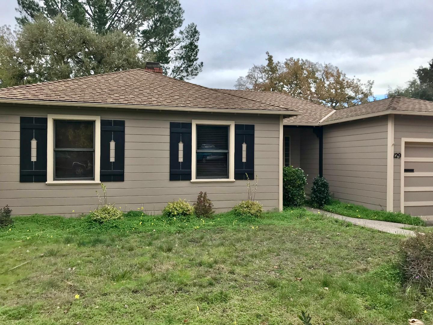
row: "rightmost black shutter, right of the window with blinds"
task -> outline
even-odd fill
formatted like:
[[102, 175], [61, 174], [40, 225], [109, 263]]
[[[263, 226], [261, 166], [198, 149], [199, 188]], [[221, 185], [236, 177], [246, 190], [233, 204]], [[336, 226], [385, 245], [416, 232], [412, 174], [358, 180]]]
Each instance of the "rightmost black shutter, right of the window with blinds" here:
[[[242, 144], [246, 144], [246, 162], [242, 162]], [[235, 179], [254, 179], [254, 125], [235, 124]]]

